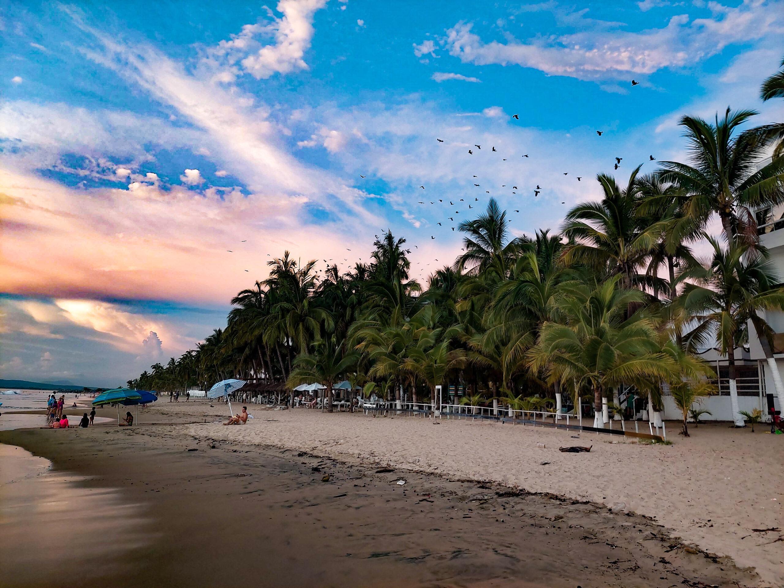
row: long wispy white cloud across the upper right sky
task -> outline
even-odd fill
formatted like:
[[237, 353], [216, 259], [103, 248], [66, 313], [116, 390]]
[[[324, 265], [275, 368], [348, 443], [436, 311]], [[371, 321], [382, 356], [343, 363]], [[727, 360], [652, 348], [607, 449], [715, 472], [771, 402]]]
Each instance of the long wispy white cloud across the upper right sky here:
[[[460, 22], [447, 31], [445, 46], [463, 63], [532, 67], [546, 74], [593, 80], [651, 74], [684, 67], [719, 53], [727, 45], [749, 43], [784, 32], [778, 0], [743, 0], [736, 8], [711, 2], [713, 18], [673, 16], [666, 27], [646, 31], [594, 30], [530, 42], [483, 42], [472, 25]], [[580, 16], [580, 13], [577, 14]]]

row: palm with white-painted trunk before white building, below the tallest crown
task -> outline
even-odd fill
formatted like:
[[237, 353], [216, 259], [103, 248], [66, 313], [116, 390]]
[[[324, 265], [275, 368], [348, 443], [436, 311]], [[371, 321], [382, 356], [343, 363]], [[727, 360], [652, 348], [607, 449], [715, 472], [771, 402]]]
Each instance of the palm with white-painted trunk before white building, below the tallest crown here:
[[[691, 283], [685, 285], [679, 303], [696, 322], [687, 339], [703, 342], [716, 333], [720, 351], [728, 360], [732, 418], [735, 426], [745, 426], [738, 404], [735, 347], [745, 343], [746, 325], [751, 322], [766, 354], [770, 353], [771, 328], [760, 310], [784, 308], [784, 289], [776, 285], [779, 278], [772, 264], [751, 245], [732, 241], [724, 248], [716, 239], [708, 241], [713, 257], [706, 267], [689, 272]], [[771, 369], [776, 378], [775, 360]]]

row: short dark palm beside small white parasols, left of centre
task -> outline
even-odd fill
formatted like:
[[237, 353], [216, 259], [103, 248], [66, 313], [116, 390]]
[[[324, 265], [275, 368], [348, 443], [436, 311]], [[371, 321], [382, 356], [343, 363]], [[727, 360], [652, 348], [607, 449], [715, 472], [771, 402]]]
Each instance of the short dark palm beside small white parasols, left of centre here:
[[289, 388], [296, 388], [304, 383], [321, 383], [327, 389], [327, 410], [332, 412], [332, 386], [343, 379], [359, 358], [354, 351], [343, 352], [343, 342], [334, 337], [327, 337], [314, 343], [312, 354], [297, 356], [294, 369], [289, 376]]

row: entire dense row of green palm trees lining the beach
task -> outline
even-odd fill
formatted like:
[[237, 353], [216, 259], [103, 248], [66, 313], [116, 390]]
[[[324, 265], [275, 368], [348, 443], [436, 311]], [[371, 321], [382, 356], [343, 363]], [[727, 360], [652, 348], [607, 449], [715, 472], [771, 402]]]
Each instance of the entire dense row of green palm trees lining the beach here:
[[[784, 97], [782, 77], [764, 83], [765, 100]], [[768, 218], [755, 216], [784, 202], [784, 124], [750, 127], [755, 114], [684, 116], [687, 163], [660, 162], [648, 175], [637, 168], [622, 185], [599, 174], [601, 200], [571, 209], [559, 234], [511, 238], [491, 199], [459, 224], [463, 253], [426, 288], [409, 276], [405, 238], [389, 230], [370, 263], [343, 274], [335, 265], [320, 275], [315, 261], [285, 252], [268, 262], [267, 279], [231, 300], [226, 328], [129, 386], [319, 382], [329, 410], [341, 379], [415, 402], [437, 386], [511, 408], [568, 394], [590, 397], [596, 426], [604, 426], [603, 399], [617, 401], [620, 387], [647, 396], [654, 410], [669, 390], [688, 434], [688, 410], [716, 376], [696, 352], [715, 340], [742, 426], [735, 348], [757, 336], [778, 376], [764, 310], [784, 308], [757, 234]], [[714, 215], [719, 238], [706, 234]], [[695, 255], [699, 243], [706, 259]], [[776, 388], [784, 394], [778, 377]]]

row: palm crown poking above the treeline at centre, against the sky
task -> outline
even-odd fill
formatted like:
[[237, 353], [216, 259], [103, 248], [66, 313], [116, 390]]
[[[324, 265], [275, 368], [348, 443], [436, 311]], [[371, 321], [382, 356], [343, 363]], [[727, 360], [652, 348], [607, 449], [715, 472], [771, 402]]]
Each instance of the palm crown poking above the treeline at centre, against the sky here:
[[517, 256], [517, 249], [526, 239], [509, 238], [509, 220], [495, 198], [490, 198], [487, 209], [477, 219], [464, 220], [458, 229], [466, 233], [463, 238], [465, 252], [455, 262], [455, 270], [466, 270], [468, 274], [479, 274], [494, 266], [503, 272], [510, 260]]

